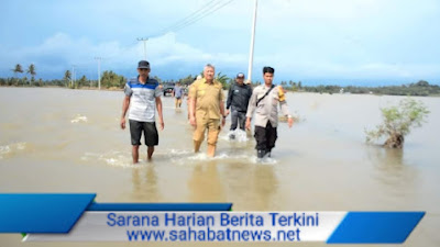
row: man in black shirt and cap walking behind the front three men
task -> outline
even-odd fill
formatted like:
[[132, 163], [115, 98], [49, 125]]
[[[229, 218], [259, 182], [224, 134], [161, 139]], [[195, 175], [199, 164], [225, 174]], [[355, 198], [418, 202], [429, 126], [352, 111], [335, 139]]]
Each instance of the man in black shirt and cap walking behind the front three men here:
[[[246, 121], [246, 111], [249, 99], [252, 96], [252, 89], [244, 82], [244, 74], [239, 72], [235, 78], [237, 83], [232, 85], [229, 89], [228, 101], [227, 101], [227, 115], [231, 109], [231, 128], [235, 131], [237, 125], [240, 124], [240, 128], [244, 131], [244, 124]], [[235, 138], [234, 134], [230, 135], [230, 138]]]

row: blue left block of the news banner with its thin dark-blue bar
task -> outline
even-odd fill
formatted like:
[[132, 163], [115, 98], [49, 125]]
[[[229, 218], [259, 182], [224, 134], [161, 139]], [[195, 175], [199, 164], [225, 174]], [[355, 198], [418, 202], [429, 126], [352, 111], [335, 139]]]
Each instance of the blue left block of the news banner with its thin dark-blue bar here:
[[94, 193], [0, 194], [0, 233], [68, 233], [85, 211], [230, 211], [231, 203], [95, 203]]

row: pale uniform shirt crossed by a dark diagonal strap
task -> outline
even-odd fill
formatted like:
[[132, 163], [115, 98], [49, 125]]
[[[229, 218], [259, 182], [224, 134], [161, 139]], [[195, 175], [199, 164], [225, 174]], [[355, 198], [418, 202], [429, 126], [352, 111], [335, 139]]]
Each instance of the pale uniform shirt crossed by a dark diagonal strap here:
[[260, 101], [256, 105], [256, 101], [267, 92], [271, 88], [265, 85], [261, 85], [254, 89], [252, 97], [249, 101], [246, 117], [252, 117], [255, 111], [255, 126], [266, 127], [267, 121], [271, 121], [273, 127], [278, 125], [278, 103], [284, 115], [290, 115], [289, 109], [286, 103], [286, 97], [283, 88], [275, 86], [272, 91]]

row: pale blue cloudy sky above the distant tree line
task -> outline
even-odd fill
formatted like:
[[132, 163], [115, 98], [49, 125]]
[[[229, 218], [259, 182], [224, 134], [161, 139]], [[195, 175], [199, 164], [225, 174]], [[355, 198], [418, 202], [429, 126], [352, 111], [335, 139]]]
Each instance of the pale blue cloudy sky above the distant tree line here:
[[[385, 86], [440, 83], [439, 0], [258, 0], [252, 80]], [[222, 8], [220, 8], [222, 7]], [[178, 79], [248, 76], [254, 0], [2, 0], [0, 77], [34, 64], [36, 78], [98, 78], [113, 70]], [[205, 16], [196, 22], [198, 16]], [[183, 29], [176, 29], [184, 25]]]

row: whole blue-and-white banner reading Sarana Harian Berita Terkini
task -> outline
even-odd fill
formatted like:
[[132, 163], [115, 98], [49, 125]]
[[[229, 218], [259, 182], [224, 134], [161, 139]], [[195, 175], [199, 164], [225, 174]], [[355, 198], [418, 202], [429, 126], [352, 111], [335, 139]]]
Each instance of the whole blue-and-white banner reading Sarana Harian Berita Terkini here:
[[97, 203], [95, 198], [94, 193], [0, 194], [0, 233], [26, 233], [24, 239], [31, 242], [187, 242], [197, 236], [218, 242], [402, 244], [425, 215], [229, 212], [231, 203]]

